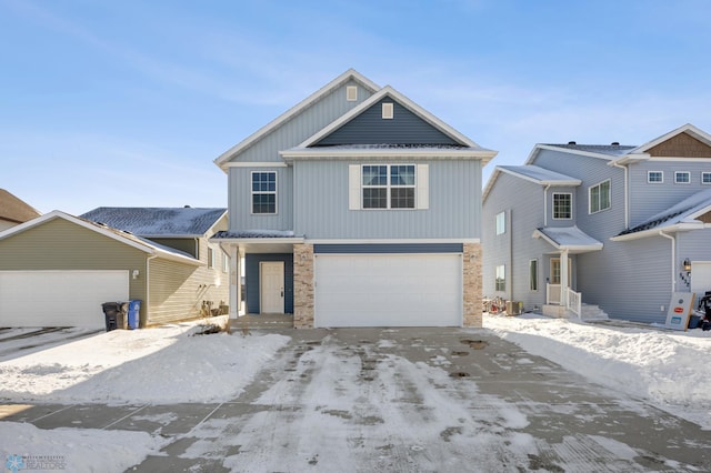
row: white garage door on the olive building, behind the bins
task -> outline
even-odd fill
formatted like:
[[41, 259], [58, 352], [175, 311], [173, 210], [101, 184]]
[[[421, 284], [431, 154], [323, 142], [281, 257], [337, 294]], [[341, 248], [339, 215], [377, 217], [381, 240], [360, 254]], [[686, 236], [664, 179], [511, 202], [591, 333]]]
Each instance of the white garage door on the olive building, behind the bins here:
[[0, 271], [0, 326], [102, 328], [128, 299], [128, 271]]

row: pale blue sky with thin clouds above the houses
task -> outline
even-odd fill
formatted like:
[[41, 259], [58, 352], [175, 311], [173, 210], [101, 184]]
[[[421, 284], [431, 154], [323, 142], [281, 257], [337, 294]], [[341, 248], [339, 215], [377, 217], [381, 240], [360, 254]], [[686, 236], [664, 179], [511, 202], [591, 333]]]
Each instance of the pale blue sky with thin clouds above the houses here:
[[0, 188], [227, 207], [213, 160], [349, 68], [522, 164], [711, 132], [707, 0], [0, 0]]

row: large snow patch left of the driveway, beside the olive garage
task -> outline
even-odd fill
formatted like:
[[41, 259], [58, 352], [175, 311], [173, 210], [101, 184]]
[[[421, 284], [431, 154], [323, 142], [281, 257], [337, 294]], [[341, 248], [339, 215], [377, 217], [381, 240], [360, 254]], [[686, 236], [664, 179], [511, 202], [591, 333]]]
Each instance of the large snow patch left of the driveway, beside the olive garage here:
[[237, 397], [289, 341], [277, 334], [194, 332], [196, 325], [189, 323], [114, 330], [23, 356], [0, 351], [0, 399], [113, 404], [227, 401]]

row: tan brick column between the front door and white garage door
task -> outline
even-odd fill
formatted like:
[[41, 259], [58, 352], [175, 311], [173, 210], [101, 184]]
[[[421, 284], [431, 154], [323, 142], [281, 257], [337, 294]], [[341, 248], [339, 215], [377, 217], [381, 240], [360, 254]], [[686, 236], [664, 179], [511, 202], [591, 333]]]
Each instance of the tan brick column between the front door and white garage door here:
[[[481, 306], [481, 303], [479, 304]], [[293, 245], [293, 326], [313, 328], [313, 245]]]

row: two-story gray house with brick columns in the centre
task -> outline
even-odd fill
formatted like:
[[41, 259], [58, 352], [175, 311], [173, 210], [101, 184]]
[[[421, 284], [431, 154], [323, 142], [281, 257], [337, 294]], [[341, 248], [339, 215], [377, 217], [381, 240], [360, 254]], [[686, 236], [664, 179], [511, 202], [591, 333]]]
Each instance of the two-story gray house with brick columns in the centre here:
[[495, 155], [348, 70], [234, 145], [230, 315], [294, 326], [481, 325], [482, 168]]

